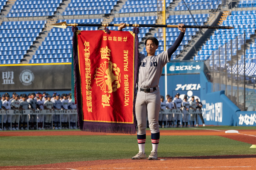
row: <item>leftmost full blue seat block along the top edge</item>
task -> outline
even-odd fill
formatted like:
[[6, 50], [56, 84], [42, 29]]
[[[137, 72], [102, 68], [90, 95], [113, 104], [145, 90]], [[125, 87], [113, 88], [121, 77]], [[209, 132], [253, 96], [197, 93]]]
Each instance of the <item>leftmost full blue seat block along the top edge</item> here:
[[7, 17], [52, 16], [62, 0], [16, 0]]

